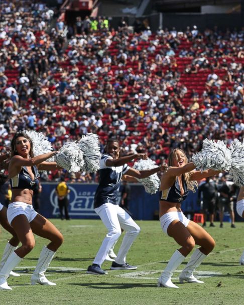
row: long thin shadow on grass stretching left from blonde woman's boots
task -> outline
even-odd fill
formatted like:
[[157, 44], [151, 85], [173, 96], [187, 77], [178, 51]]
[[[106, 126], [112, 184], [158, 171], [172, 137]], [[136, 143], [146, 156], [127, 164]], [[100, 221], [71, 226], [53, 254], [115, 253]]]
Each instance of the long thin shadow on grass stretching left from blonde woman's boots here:
[[[100, 276], [100, 275], [98, 275]], [[67, 285], [82, 286], [91, 289], [130, 289], [143, 287], [157, 287], [157, 285], [149, 283], [67, 283]]]

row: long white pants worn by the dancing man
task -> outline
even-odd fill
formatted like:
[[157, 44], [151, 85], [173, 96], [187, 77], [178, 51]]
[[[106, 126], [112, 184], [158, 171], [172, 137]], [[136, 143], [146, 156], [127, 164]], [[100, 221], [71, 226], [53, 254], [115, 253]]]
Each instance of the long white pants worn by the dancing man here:
[[101, 266], [105, 260], [105, 257], [107, 256], [108, 251], [121, 235], [121, 228], [126, 231], [126, 234], [119, 248], [115, 262], [118, 264], [125, 264], [126, 255], [133, 241], [140, 233], [140, 227], [135, 223], [131, 216], [118, 205], [105, 203], [94, 210], [101, 218], [108, 232], [106, 237], [103, 239], [93, 264]]

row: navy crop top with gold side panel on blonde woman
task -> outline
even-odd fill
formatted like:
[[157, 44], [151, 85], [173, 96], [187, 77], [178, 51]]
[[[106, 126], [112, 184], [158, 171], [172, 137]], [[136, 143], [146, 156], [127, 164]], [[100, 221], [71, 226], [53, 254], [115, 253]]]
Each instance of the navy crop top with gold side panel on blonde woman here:
[[175, 183], [172, 185], [172, 187], [170, 187], [167, 190], [160, 191], [159, 193], [160, 200], [180, 203], [181, 201], [185, 200], [186, 196], [188, 195], [187, 184], [184, 178], [183, 178], [183, 189], [184, 189], [184, 194], [181, 195], [179, 180], [178, 177], [176, 177]]

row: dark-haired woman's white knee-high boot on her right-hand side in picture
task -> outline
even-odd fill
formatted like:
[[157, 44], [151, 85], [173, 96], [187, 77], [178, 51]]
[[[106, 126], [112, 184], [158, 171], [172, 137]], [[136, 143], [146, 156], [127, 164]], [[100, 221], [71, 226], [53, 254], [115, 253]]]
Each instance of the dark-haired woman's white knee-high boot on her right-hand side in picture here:
[[31, 277], [31, 284], [41, 284], [41, 285], [50, 285], [50, 286], [56, 286], [55, 283], [50, 282], [46, 276], [44, 275], [44, 272], [47, 270], [51, 260], [54, 257], [54, 254], [56, 252], [49, 250], [46, 246], [42, 248], [42, 251], [40, 253], [40, 257], [37, 262], [36, 269]]

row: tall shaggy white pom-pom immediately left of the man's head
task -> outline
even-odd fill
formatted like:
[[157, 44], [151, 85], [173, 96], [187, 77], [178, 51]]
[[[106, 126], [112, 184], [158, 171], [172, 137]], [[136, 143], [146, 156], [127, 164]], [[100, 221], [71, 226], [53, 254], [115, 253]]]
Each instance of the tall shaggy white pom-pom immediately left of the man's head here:
[[81, 170], [86, 173], [98, 171], [101, 159], [98, 135], [94, 133], [83, 135], [78, 142], [78, 146], [82, 150], [84, 159], [84, 165]]

